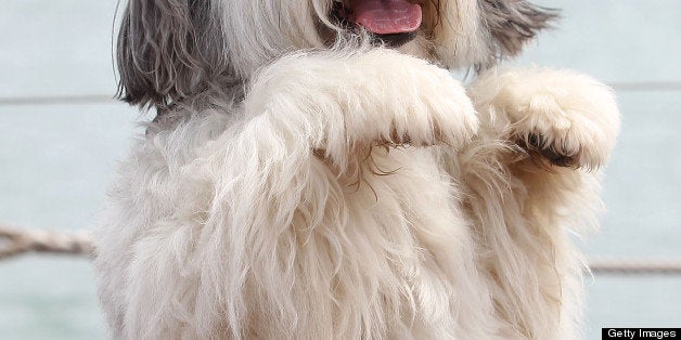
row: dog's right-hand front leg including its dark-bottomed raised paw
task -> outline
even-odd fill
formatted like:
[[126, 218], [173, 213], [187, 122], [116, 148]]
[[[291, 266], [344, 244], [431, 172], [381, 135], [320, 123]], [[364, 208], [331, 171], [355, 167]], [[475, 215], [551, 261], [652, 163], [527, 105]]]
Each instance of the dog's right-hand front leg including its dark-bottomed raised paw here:
[[568, 70], [490, 70], [468, 93], [480, 134], [463, 168], [487, 270], [501, 278], [496, 305], [528, 338], [574, 339], [583, 262], [567, 231], [595, 226], [601, 202], [590, 170], [615, 144], [614, 95]]

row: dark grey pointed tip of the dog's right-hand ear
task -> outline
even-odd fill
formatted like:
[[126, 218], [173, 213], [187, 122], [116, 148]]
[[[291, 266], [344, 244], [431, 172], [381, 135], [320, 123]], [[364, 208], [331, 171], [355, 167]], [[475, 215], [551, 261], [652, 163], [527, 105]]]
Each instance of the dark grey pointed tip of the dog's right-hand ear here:
[[557, 11], [525, 0], [480, 0], [483, 21], [501, 55], [513, 56], [558, 17]]

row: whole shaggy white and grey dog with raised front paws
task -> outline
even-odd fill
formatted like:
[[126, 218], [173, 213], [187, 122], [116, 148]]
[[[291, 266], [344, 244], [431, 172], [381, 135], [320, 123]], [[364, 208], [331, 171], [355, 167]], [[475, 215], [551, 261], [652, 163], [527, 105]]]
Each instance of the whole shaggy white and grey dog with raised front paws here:
[[[573, 339], [614, 96], [499, 70], [524, 0], [130, 0], [157, 112], [98, 231], [114, 338]], [[470, 68], [466, 88], [448, 69]]]

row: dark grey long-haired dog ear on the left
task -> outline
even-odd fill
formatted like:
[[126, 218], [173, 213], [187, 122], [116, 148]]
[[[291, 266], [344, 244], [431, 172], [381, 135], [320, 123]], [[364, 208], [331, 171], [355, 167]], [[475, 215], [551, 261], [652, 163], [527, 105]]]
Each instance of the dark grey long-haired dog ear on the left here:
[[164, 107], [204, 90], [223, 71], [209, 0], [129, 0], [118, 32], [118, 97]]

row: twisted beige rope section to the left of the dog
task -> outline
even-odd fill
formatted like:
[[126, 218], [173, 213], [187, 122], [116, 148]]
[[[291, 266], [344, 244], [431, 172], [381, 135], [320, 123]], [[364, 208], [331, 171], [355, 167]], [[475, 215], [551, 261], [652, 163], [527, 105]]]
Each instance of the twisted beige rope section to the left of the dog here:
[[87, 233], [62, 233], [0, 225], [0, 260], [34, 251], [91, 257], [93, 250], [92, 238]]

